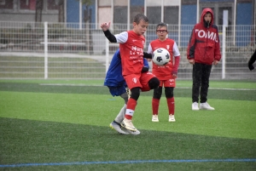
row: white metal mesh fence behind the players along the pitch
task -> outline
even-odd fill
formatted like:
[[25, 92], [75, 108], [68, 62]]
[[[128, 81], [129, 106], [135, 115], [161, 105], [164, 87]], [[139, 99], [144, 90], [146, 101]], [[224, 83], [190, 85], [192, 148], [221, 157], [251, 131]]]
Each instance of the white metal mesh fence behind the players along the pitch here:
[[[132, 26], [130, 26], [132, 28]], [[186, 48], [193, 26], [169, 25], [168, 36], [181, 53], [178, 79], [191, 79], [192, 66]], [[218, 26], [223, 60], [212, 66], [211, 79], [256, 80], [247, 61], [253, 54], [253, 26]], [[125, 24], [111, 26], [113, 34], [127, 30]], [[102, 79], [118, 44], [108, 43], [95, 24], [0, 21], [1, 79]], [[154, 40], [155, 25], [149, 25], [146, 47]]]

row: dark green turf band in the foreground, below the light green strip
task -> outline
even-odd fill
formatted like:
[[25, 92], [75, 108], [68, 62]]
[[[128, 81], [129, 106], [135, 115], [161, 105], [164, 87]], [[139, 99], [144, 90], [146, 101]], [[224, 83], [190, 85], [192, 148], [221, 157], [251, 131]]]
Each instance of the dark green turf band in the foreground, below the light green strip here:
[[[95, 170], [124, 168], [170, 170], [170, 166], [176, 170], [206, 170], [210, 168], [215, 170], [230, 170], [230, 168], [234, 168], [231, 170], [252, 170], [256, 166], [255, 162], [242, 161], [163, 162], [164, 160], [255, 159], [256, 140], [148, 130], [140, 130], [140, 135], [122, 135], [108, 127], [4, 117], [0, 119], [0, 130], [0, 165], [44, 163], [37, 167], [23, 167], [24, 170], [53, 168], [54, 170], [91, 170], [92, 168], [96, 168]], [[162, 162], [127, 162], [148, 160]], [[67, 166], [54, 164], [63, 162], [67, 163]], [[108, 162], [108, 164], [86, 165], [78, 162]], [[8, 167], [8, 169], [17, 170], [15, 167]]]

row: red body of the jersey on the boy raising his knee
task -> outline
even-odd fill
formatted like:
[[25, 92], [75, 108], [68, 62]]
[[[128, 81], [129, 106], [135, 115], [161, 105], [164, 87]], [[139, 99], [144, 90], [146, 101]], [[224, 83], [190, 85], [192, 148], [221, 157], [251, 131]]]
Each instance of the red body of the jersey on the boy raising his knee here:
[[145, 38], [143, 35], [137, 35], [134, 31], [127, 32], [127, 41], [119, 43], [123, 76], [141, 73], [143, 69]]

